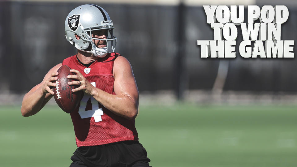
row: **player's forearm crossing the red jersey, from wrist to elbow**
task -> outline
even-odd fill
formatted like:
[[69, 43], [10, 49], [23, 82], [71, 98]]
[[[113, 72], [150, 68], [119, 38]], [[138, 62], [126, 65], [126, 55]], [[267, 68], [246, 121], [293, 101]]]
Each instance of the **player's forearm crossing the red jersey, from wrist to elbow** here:
[[112, 95], [101, 89], [94, 88], [91, 96], [118, 116], [134, 119], [138, 113], [138, 99], [128, 95]]

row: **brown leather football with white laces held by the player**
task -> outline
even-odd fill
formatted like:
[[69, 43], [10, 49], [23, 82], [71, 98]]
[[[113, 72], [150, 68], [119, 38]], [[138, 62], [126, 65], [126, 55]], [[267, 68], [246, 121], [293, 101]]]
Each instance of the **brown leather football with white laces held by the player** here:
[[82, 91], [71, 91], [78, 88], [79, 85], [68, 85], [68, 82], [76, 81], [75, 79], [67, 78], [67, 75], [76, 75], [70, 72], [70, 70], [71, 68], [67, 65], [63, 65], [58, 69], [58, 80], [56, 81], [56, 87], [53, 88], [56, 103], [66, 113], [71, 113], [82, 98]]

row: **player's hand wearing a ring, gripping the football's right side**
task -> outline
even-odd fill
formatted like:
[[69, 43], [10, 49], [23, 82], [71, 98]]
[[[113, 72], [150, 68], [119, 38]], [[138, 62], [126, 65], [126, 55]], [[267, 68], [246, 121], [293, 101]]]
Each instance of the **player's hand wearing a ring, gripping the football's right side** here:
[[88, 95], [92, 95], [95, 87], [80, 73], [80, 71], [71, 69], [70, 72], [75, 72], [76, 75], [68, 75], [67, 78], [76, 79], [78, 81], [68, 82], [68, 85], [80, 85], [80, 87], [72, 89], [72, 92], [83, 91]]

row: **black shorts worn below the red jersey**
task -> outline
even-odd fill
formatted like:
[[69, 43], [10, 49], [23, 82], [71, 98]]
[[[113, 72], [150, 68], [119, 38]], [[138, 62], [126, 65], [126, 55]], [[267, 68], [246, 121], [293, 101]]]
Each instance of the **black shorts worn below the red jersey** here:
[[82, 146], [73, 154], [70, 167], [151, 167], [147, 152], [138, 141]]

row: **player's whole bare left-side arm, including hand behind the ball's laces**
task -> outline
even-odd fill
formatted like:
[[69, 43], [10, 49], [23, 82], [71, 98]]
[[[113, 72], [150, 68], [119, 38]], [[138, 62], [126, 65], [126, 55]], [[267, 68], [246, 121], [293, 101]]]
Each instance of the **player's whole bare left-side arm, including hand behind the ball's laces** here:
[[50, 86], [56, 86], [56, 83], [53, 82], [58, 79], [58, 77], [56, 77], [58, 75], [56, 71], [60, 66], [62, 66], [62, 63], [50, 69], [43, 81], [25, 94], [21, 107], [21, 113], [24, 117], [36, 114], [54, 95]]

